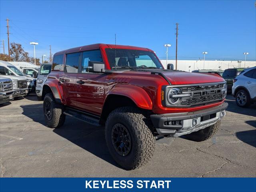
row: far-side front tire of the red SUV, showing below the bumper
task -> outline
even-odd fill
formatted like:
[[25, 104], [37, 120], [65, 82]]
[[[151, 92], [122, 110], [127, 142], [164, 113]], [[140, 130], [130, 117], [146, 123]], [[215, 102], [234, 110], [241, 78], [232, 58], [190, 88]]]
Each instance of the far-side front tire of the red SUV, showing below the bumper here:
[[220, 120], [209, 127], [187, 134], [186, 138], [188, 140], [192, 140], [196, 142], [205, 141], [212, 138], [218, 132], [219, 128], [220, 128]]

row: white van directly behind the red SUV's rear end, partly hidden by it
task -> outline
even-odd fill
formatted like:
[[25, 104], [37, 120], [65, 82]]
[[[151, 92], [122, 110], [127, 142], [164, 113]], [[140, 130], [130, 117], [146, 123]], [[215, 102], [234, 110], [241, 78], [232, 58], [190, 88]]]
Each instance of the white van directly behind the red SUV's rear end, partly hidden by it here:
[[42, 88], [51, 70], [52, 70], [51, 64], [42, 64], [40, 67], [40, 70], [37, 76], [37, 81], [36, 81], [36, 95], [39, 101], [42, 100]]

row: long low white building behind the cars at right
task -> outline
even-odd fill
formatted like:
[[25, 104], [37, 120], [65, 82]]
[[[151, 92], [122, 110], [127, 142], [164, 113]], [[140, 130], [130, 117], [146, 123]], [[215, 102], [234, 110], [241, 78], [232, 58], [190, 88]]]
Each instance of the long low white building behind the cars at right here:
[[[166, 60], [160, 60], [164, 68], [167, 68]], [[176, 60], [167, 60], [167, 64], [173, 64], [175, 69]], [[202, 69], [248, 68], [256, 66], [256, 61], [218, 61], [218, 60], [178, 60], [177, 69], [187, 72]]]

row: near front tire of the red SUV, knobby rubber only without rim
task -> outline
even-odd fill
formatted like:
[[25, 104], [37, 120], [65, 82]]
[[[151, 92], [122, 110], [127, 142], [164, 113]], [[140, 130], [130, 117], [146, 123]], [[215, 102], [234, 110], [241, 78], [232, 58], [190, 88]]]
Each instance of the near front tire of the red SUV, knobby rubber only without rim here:
[[[112, 128], [116, 124], [125, 126], [131, 136], [132, 146], [126, 156], [118, 154], [112, 144]], [[148, 163], [154, 154], [156, 140], [150, 130], [149, 120], [142, 110], [135, 107], [117, 108], [109, 114], [105, 139], [111, 156], [126, 170], [140, 168]]]

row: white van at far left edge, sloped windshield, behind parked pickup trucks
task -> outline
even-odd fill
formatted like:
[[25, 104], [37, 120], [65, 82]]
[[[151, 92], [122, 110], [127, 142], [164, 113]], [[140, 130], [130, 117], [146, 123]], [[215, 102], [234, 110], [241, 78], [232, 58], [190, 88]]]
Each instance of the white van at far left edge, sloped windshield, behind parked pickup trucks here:
[[12, 65], [10, 62], [0, 60], [0, 67], [2, 70], [1, 74], [3, 74], [4, 71], [6, 72], [9, 70], [13, 74], [13, 76], [23, 76], [27, 80], [28, 93], [30, 93], [36, 89], [36, 78], [26, 76], [24, 73], [22, 73], [20, 70], [18, 70], [18, 68], [16, 68], [16, 66]]

